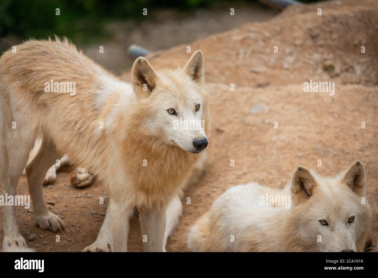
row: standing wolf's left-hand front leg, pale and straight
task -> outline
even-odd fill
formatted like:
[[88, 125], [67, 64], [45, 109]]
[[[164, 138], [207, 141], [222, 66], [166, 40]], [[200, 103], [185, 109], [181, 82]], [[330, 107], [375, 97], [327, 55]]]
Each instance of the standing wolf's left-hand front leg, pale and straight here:
[[110, 230], [112, 231], [112, 252], [127, 252], [127, 237], [129, 235], [129, 218], [134, 207], [111, 201]]

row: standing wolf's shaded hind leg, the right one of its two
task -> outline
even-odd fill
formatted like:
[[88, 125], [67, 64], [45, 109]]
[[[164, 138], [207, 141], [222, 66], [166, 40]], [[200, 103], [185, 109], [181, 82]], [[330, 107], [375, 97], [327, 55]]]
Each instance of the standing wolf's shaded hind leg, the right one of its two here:
[[48, 211], [46, 203], [43, 200], [43, 180], [47, 170], [55, 163], [57, 158], [60, 158], [60, 156], [57, 154], [55, 148], [43, 139], [38, 154], [26, 166], [29, 193], [33, 202], [33, 219], [37, 226], [43, 230], [64, 230], [63, 221]]

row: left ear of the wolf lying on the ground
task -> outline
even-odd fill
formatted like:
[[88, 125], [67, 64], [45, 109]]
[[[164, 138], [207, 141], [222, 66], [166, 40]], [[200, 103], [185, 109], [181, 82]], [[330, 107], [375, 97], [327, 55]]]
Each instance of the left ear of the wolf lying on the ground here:
[[311, 197], [318, 182], [304, 166], [298, 166], [291, 178], [291, 192], [294, 203], [300, 203]]

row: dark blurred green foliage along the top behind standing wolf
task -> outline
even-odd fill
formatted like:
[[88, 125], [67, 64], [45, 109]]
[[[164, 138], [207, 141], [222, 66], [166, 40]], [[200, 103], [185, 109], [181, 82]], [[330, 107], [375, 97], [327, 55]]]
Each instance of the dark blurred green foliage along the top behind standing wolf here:
[[[88, 40], [105, 36], [110, 19], [143, 20], [143, 8], [196, 9], [214, 0], [0, 0], [0, 37], [21, 39], [59, 36]], [[56, 15], [56, 9], [60, 15]]]

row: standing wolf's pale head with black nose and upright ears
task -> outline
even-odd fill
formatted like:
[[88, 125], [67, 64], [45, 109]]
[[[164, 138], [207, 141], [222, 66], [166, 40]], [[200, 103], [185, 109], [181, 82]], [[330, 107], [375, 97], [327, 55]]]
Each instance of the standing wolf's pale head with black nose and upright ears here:
[[[208, 93], [204, 89], [204, 58], [193, 53], [184, 68], [155, 71], [139, 57], [132, 68], [132, 84], [144, 133], [161, 143], [199, 153], [208, 146]], [[141, 127], [142, 128], [142, 127]]]

